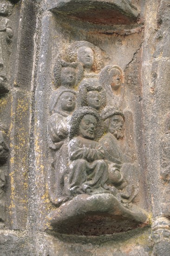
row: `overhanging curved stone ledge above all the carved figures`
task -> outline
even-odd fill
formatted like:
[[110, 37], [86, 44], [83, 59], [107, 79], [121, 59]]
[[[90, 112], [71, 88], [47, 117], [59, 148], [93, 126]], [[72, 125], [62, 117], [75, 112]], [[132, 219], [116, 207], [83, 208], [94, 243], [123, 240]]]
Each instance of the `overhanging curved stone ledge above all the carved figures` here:
[[[76, 8], [74, 8], [76, 4]], [[133, 6], [134, 7], [134, 6]], [[78, 20], [99, 24], [129, 24], [137, 20], [137, 8], [124, 0], [100, 1], [53, 1], [48, 8]]]

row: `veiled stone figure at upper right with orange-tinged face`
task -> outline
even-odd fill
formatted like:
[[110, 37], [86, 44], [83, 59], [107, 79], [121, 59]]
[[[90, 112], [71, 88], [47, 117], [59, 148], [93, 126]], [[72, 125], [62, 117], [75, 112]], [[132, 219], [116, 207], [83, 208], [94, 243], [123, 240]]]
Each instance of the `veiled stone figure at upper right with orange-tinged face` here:
[[100, 83], [106, 90], [109, 105], [120, 108], [124, 98], [124, 72], [121, 67], [104, 67], [100, 73]]

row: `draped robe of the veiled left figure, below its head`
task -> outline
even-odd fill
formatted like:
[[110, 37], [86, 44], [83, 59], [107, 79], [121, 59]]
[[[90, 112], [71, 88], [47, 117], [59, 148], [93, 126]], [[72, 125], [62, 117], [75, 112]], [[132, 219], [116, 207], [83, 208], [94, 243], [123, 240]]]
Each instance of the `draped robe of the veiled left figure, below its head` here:
[[48, 122], [48, 144], [55, 150], [52, 167], [55, 170], [53, 197], [66, 196], [68, 185], [68, 133], [71, 116], [63, 112], [54, 113]]

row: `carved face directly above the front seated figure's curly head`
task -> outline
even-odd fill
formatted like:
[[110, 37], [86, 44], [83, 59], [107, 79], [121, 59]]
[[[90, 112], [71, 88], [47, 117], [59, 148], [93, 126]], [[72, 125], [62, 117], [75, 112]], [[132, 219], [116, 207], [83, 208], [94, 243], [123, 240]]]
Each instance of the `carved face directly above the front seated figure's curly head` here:
[[99, 109], [101, 107], [101, 97], [98, 91], [90, 91], [87, 94], [88, 107]]

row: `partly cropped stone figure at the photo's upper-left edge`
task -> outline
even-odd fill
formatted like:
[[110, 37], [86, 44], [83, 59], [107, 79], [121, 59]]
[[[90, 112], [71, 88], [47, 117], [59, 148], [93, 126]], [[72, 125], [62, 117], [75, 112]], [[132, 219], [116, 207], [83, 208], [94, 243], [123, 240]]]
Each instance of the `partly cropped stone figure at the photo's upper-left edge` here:
[[6, 93], [8, 91], [7, 73], [13, 27], [7, 16], [11, 13], [12, 4], [7, 0], [0, 0], [0, 93]]

